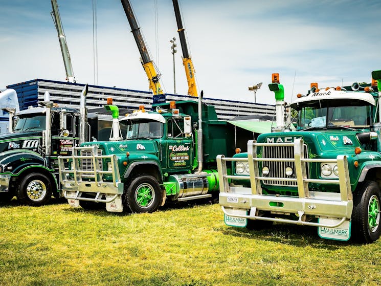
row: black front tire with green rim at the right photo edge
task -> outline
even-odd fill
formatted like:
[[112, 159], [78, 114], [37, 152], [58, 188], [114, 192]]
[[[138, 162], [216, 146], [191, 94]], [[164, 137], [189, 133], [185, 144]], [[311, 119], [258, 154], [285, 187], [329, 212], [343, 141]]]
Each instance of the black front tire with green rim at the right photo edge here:
[[376, 182], [365, 181], [353, 194], [351, 236], [359, 243], [372, 243], [381, 234], [381, 192]]

